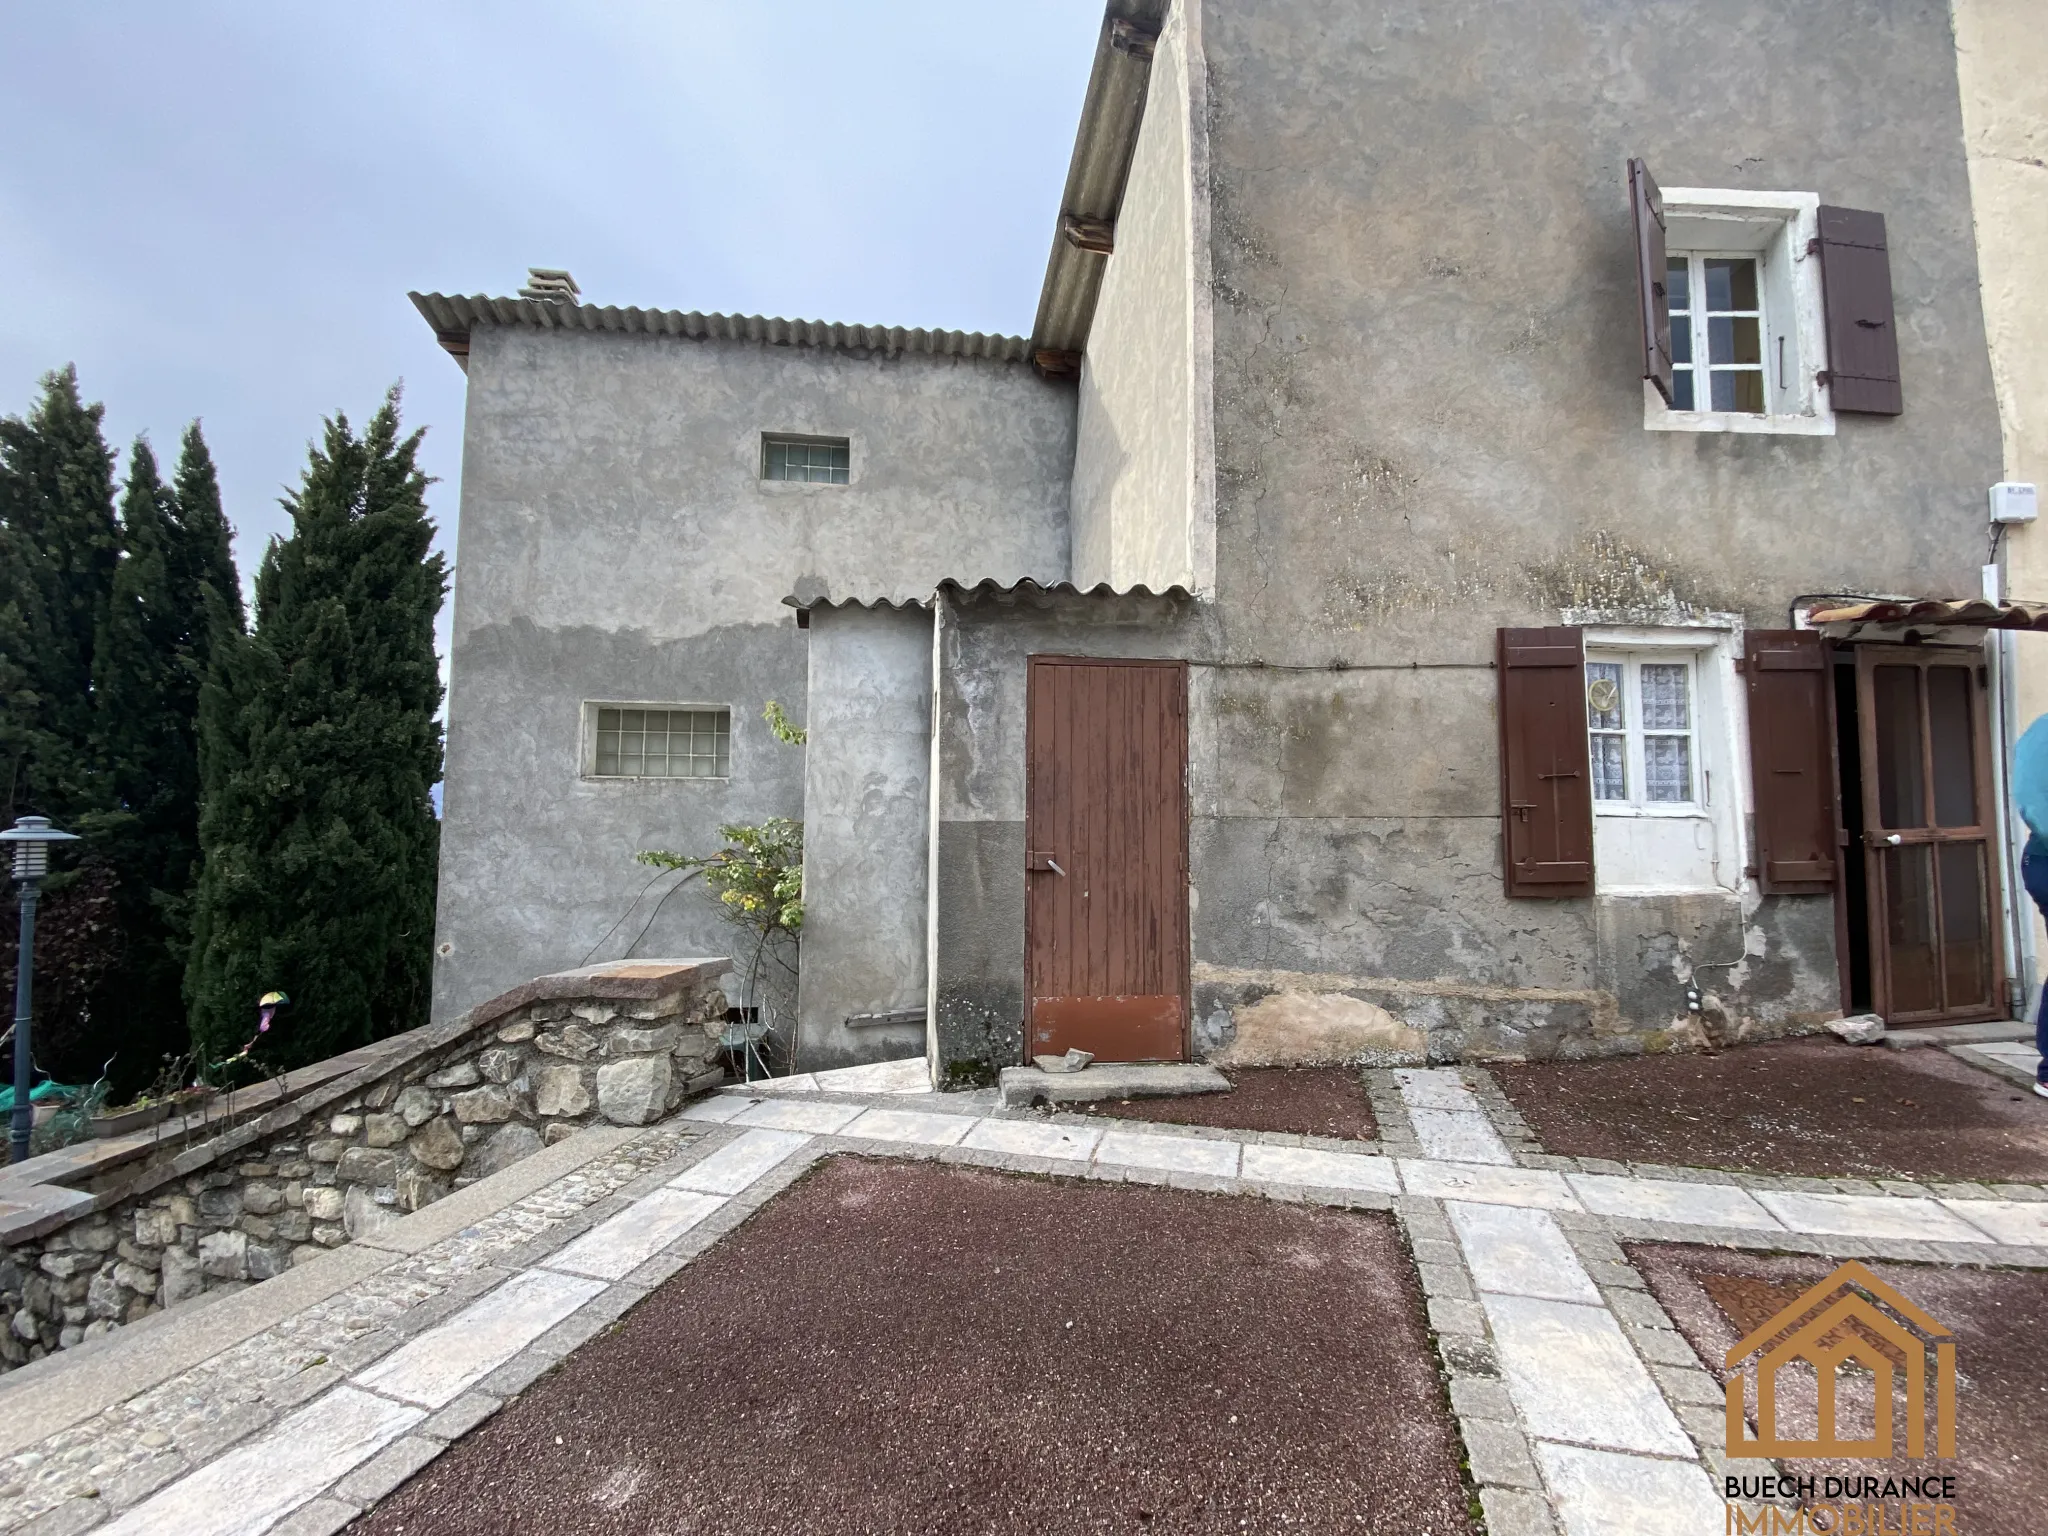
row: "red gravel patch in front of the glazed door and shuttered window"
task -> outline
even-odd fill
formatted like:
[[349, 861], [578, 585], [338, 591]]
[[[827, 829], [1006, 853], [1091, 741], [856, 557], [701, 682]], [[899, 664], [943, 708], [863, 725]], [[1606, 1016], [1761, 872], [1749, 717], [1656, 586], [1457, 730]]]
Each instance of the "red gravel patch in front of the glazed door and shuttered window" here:
[[1780, 1040], [1495, 1065], [1544, 1151], [1860, 1178], [2048, 1180], [2048, 1100], [1937, 1047]]

